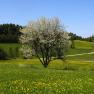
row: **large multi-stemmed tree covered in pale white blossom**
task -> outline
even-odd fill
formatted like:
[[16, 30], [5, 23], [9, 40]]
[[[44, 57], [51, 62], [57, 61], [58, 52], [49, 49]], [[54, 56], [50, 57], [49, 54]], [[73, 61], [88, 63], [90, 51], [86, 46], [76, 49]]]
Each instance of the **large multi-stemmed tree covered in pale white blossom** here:
[[[32, 49], [32, 54], [39, 58], [44, 67], [53, 59], [64, 59], [64, 51], [69, 47], [69, 36], [58, 18], [43, 17], [32, 21], [21, 32], [20, 42]], [[24, 51], [27, 52], [27, 49]]]

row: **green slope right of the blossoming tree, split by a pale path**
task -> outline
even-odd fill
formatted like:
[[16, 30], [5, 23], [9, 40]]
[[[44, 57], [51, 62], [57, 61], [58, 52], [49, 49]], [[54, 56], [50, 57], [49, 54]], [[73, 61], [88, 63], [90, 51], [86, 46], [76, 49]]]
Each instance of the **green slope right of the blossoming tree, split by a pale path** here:
[[[82, 54], [82, 53], [89, 53], [89, 52], [94, 52], [94, 44], [92, 42], [76, 40], [75, 41], [75, 48], [70, 49], [67, 52], [67, 54], [73, 55], [73, 54]], [[94, 54], [68, 57], [68, 59], [90, 61], [90, 60], [94, 60]]]

